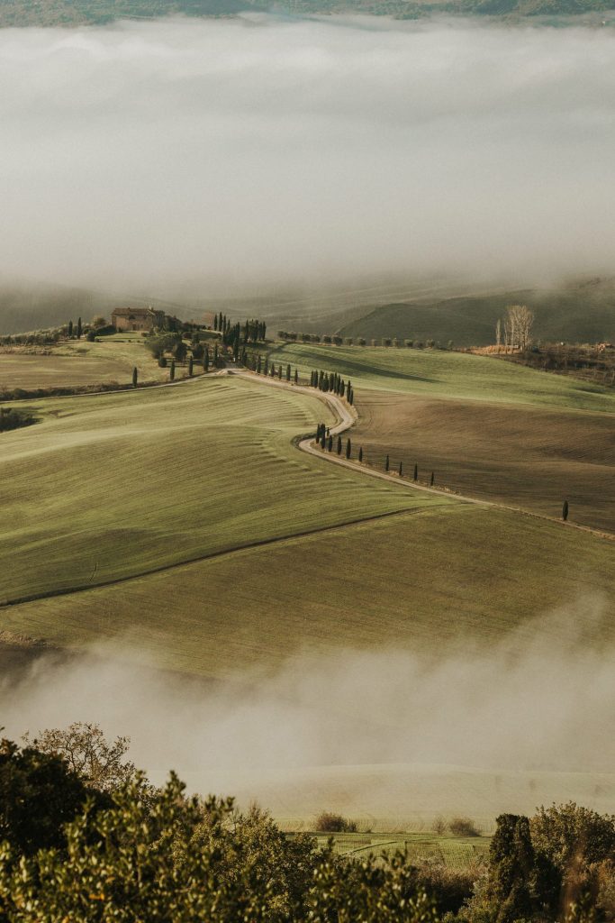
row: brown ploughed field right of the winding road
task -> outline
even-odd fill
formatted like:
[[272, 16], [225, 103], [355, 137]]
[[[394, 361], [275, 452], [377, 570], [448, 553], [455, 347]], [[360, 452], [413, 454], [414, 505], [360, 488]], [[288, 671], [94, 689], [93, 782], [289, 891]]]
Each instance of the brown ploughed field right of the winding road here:
[[390, 453], [420, 479], [472, 497], [559, 516], [615, 532], [614, 422], [520, 405], [360, 392], [353, 438], [365, 462], [382, 468]]

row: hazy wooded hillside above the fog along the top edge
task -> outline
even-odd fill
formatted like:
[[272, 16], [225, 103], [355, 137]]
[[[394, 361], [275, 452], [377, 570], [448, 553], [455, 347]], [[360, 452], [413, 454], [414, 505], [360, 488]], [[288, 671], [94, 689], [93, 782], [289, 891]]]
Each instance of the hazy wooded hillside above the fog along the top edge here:
[[105, 25], [115, 19], [227, 17], [248, 10], [294, 15], [363, 13], [416, 19], [434, 12], [504, 18], [571, 16], [612, 9], [613, 0], [0, 0], [0, 28]]

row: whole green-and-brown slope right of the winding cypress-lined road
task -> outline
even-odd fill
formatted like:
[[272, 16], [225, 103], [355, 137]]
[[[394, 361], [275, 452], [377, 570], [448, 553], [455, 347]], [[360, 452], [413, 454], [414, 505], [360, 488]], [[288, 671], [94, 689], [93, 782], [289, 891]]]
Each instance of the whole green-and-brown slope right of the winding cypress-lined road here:
[[434, 471], [437, 484], [458, 493], [550, 516], [567, 497], [571, 521], [615, 532], [615, 390], [467, 354], [275, 352], [284, 354], [352, 378], [360, 415], [353, 441], [366, 462], [382, 467], [389, 454], [407, 476], [416, 462], [422, 480]]

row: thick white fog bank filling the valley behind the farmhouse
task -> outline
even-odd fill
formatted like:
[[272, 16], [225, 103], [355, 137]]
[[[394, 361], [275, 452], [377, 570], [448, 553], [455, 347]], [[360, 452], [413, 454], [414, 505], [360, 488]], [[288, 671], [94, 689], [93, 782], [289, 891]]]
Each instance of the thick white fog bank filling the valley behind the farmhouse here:
[[612, 270], [613, 30], [2, 30], [0, 88], [0, 276]]

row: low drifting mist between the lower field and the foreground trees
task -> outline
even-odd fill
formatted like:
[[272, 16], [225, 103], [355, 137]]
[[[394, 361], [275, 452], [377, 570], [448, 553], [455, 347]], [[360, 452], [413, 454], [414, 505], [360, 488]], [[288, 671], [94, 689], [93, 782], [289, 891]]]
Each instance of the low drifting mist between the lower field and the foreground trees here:
[[[585, 600], [488, 647], [426, 657], [391, 648], [303, 653], [236, 681], [159, 673], [136, 652], [42, 658], [0, 681], [0, 725], [99, 722], [136, 764], [199, 779], [316, 765], [448, 763], [612, 772], [615, 649]], [[224, 643], [220, 639], [219, 643]], [[133, 654], [137, 665], [126, 660]]]

